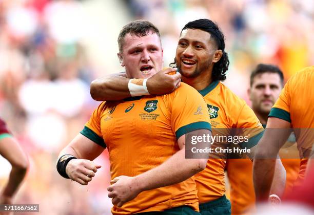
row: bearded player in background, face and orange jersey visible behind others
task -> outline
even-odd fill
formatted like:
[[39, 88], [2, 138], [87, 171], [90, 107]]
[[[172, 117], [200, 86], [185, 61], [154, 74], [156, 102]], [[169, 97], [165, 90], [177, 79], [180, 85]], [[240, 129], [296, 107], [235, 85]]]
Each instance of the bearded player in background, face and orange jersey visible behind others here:
[[[248, 95], [252, 102], [252, 110], [263, 124], [263, 127], [266, 127], [270, 109], [278, 99], [283, 85], [284, 76], [277, 66], [261, 63], [251, 73]], [[291, 134], [289, 139], [287, 144], [295, 143], [294, 135]], [[280, 157], [289, 156], [282, 154]], [[282, 163], [287, 172], [286, 193], [289, 192], [298, 177], [300, 159], [282, 159]], [[252, 162], [249, 159], [227, 159], [226, 170], [231, 186], [231, 213], [243, 214], [255, 202]]]

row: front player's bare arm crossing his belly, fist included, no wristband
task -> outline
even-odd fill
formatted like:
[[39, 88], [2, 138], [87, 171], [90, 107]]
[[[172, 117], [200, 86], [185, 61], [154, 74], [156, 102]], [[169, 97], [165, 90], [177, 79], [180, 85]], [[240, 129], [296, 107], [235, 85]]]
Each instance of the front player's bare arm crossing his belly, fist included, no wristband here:
[[[199, 136], [203, 134], [211, 135], [211, 132], [209, 130], [197, 130], [188, 133], [188, 135]], [[112, 183], [114, 184], [108, 187], [108, 191], [110, 191], [108, 197], [113, 198], [112, 203], [121, 207], [144, 190], [180, 183], [206, 167], [208, 159], [185, 158], [185, 135], [178, 139], [178, 144], [180, 150], [161, 165], [136, 177], [120, 176], [113, 179]], [[210, 145], [208, 146], [210, 147]]]

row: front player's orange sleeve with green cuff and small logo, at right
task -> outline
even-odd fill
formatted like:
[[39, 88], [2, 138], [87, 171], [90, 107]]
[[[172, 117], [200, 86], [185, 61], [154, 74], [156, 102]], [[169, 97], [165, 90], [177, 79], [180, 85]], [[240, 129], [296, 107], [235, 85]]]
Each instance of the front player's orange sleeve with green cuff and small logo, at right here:
[[171, 99], [171, 126], [176, 139], [189, 132], [211, 131], [207, 105], [202, 95], [187, 84], [169, 94]]

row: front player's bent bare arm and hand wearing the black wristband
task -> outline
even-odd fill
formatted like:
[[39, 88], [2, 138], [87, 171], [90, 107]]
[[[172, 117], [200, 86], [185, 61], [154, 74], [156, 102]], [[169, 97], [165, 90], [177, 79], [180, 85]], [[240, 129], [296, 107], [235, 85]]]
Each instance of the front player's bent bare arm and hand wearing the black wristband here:
[[92, 180], [101, 165], [92, 160], [98, 157], [104, 147], [96, 144], [82, 134], [78, 134], [60, 153], [59, 157], [70, 154], [78, 159], [70, 160], [66, 166], [66, 173], [70, 179], [82, 185], [87, 185]]

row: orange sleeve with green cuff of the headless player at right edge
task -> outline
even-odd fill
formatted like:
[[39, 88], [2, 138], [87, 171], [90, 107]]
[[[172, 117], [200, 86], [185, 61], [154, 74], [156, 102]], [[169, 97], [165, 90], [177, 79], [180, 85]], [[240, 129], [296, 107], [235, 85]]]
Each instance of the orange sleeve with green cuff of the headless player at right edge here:
[[268, 117], [276, 117], [291, 122], [290, 118], [290, 79], [281, 91], [276, 103], [272, 106]]

